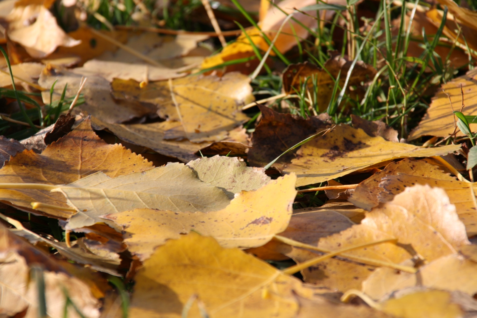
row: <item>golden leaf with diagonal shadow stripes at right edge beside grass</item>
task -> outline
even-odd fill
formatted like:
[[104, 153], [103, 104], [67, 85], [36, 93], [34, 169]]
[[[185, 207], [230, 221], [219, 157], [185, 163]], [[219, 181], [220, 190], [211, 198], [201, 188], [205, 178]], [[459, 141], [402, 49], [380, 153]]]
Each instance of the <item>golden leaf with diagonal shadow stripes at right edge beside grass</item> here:
[[[448, 137], [454, 133], [456, 127], [454, 111], [459, 111], [462, 105], [462, 91], [464, 92], [464, 115], [477, 115], [477, 70], [471, 70], [467, 74], [456, 77], [442, 85], [439, 92], [433, 98], [424, 118], [419, 125], [409, 134], [408, 140], [421, 136]], [[450, 99], [450, 101], [449, 101]], [[452, 104], [451, 104], [452, 103]], [[477, 125], [471, 123], [472, 131]], [[457, 128], [457, 135], [463, 135]]]

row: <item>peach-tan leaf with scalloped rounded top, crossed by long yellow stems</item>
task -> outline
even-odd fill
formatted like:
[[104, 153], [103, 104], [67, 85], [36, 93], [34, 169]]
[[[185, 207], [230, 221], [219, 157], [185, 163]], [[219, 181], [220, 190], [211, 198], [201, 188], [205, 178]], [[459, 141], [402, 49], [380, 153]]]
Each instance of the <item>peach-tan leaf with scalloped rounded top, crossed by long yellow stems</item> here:
[[[455, 254], [460, 246], [469, 244], [465, 227], [444, 190], [415, 185], [396, 195], [393, 201], [367, 213], [360, 225], [320, 238], [318, 247], [335, 250], [389, 237], [397, 238], [401, 246], [410, 245], [412, 249], [381, 244], [346, 252], [342, 257], [360, 256], [402, 263], [417, 253], [430, 262], [441, 256]], [[296, 248], [286, 255], [298, 262], [316, 257], [314, 253]], [[336, 262], [339, 261], [325, 261], [302, 271], [305, 281], [345, 291], [343, 287], [360, 288], [361, 281], [372, 273], [368, 271], [366, 275], [365, 267], [356, 263], [345, 263], [340, 266], [342, 270], [337, 270], [340, 267], [332, 266]]]

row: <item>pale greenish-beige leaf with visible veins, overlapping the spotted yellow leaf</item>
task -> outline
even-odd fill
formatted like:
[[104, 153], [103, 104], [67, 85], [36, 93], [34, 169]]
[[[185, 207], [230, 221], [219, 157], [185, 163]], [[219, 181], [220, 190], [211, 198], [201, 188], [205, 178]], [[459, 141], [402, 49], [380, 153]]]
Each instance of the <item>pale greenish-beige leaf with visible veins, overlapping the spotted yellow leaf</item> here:
[[68, 205], [78, 211], [69, 219], [69, 229], [104, 222], [100, 215], [135, 208], [211, 212], [230, 203], [221, 189], [200, 181], [189, 167], [179, 163], [116, 178], [98, 172], [52, 191], [61, 192]]

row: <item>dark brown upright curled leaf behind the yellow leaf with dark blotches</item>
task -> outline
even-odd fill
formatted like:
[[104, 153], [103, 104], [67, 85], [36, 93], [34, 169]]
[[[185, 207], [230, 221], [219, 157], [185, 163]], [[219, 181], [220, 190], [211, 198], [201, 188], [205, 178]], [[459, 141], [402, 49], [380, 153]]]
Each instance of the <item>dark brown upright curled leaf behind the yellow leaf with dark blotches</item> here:
[[[326, 118], [312, 116], [304, 119], [297, 115], [277, 113], [266, 106], [258, 106], [262, 119], [252, 134], [252, 148], [248, 153], [248, 160], [252, 166], [265, 166], [291, 146], [327, 126], [324, 122]], [[291, 158], [293, 158], [292, 151], [281, 156], [273, 167], [281, 170]]]

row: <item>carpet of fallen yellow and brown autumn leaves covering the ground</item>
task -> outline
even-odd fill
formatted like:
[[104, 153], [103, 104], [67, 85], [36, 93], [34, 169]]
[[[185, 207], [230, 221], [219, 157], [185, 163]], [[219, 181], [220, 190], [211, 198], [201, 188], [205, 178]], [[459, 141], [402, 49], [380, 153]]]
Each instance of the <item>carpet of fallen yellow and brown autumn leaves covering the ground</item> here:
[[[93, 17], [110, 27], [94, 1], [81, 1], [84, 8], [70, 2], [76, 18], [94, 11]], [[9, 51], [13, 81], [22, 92], [33, 92], [41, 110], [33, 118], [44, 129], [35, 134], [31, 128], [18, 137], [21, 142], [0, 136], [0, 313], [36, 317], [41, 295], [50, 317], [112, 317], [122, 310], [113, 310], [120, 303], [129, 317], [475, 313], [473, 151], [465, 139], [458, 144], [454, 137], [467, 134], [473, 145], [476, 136], [461, 133], [453, 114], [460, 110], [474, 127], [475, 72], [458, 71], [461, 76], [454, 79], [449, 74], [475, 57], [476, 14], [447, 0], [438, 1], [448, 7], [446, 16], [438, 7], [420, 6], [404, 14], [403, 30], [409, 25], [412, 37], [419, 37], [424, 28], [430, 41], [446, 17], [439, 40], [452, 40], [448, 46], [438, 43], [428, 64], [420, 60], [429, 49], [425, 37], [425, 49], [410, 41], [407, 56], [396, 59], [425, 65], [423, 73], [442, 71], [431, 82], [443, 85], [417, 127], [409, 123], [416, 128], [407, 136], [411, 117], [405, 105], [404, 118], [376, 120], [379, 116], [363, 112], [370, 94], [380, 103], [385, 99], [385, 92], [373, 91], [384, 78], [383, 61], [354, 59], [367, 53], [353, 47], [358, 42], [352, 38], [342, 53], [329, 51], [326, 58], [320, 55], [324, 51], [317, 53], [320, 66], [311, 60], [285, 62], [296, 54], [297, 43], [309, 34], [316, 37], [317, 11], [320, 30], [332, 22], [358, 32], [335, 15], [357, 8], [360, 1], [354, 2], [344, 7], [342, 1], [284, 0], [273, 6], [261, 1], [260, 30], [243, 29], [212, 56], [210, 32], [154, 28], [175, 34], [157, 35], [145, 25], [96, 31], [83, 22], [78, 28], [57, 20], [58, 3], [51, 0], [1, 6], [7, 28], [0, 28], [0, 42]], [[394, 5], [402, 6], [398, 2]], [[144, 3], [135, 4], [131, 21], [139, 14], [150, 17]], [[125, 12], [122, 5], [114, 19]], [[223, 17], [222, 26], [228, 19]], [[390, 23], [394, 36], [399, 23]], [[366, 20], [359, 32], [373, 26]], [[316, 40], [317, 48], [342, 41]], [[311, 43], [299, 43], [300, 54], [312, 56]], [[265, 51], [270, 55], [262, 72], [254, 72]], [[448, 56], [445, 70], [439, 71], [438, 56]], [[10, 124], [28, 125], [25, 117], [9, 117], [10, 109], [21, 108], [11, 103], [16, 96], [10, 70], [1, 66], [1, 94], [9, 110], [1, 112], [0, 133], [9, 132]], [[274, 72], [261, 76], [270, 69]], [[195, 72], [201, 74], [190, 76]], [[68, 101], [79, 94], [83, 76], [88, 77], [84, 102], [70, 110], [64, 102], [51, 113], [66, 84]], [[270, 88], [267, 81], [274, 80], [281, 87]], [[253, 91], [257, 85], [260, 90]], [[389, 96], [394, 89], [389, 87]], [[334, 105], [338, 91], [345, 98]], [[267, 94], [272, 98], [252, 103]], [[386, 107], [401, 110], [389, 96]], [[29, 114], [36, 110], [31, 100], [25, 106]], [[252, 106], [258, 107], [248, 110]], [[52, 118], [56, 123], [46, 127]], [[399, 119], [401, 132], [391, 127]], [[108, 134], [115, 144], [99, 137]], [[414, 144], [406, 144], [406, 137]], [[439, 138], [449, 142], [429, 147]], [[145, 159], [150, 154], [170, 162], [155, 167]], [[457, 160], [448, 160], [454, 155]], [[321, 188], [324, 182], [328, 185]], [[292, 277], [297, 272], [300, 278]], [[125, 287], [113, 276], [123, 277]], [[361, 300], [346, 304], [353, 297]]]

